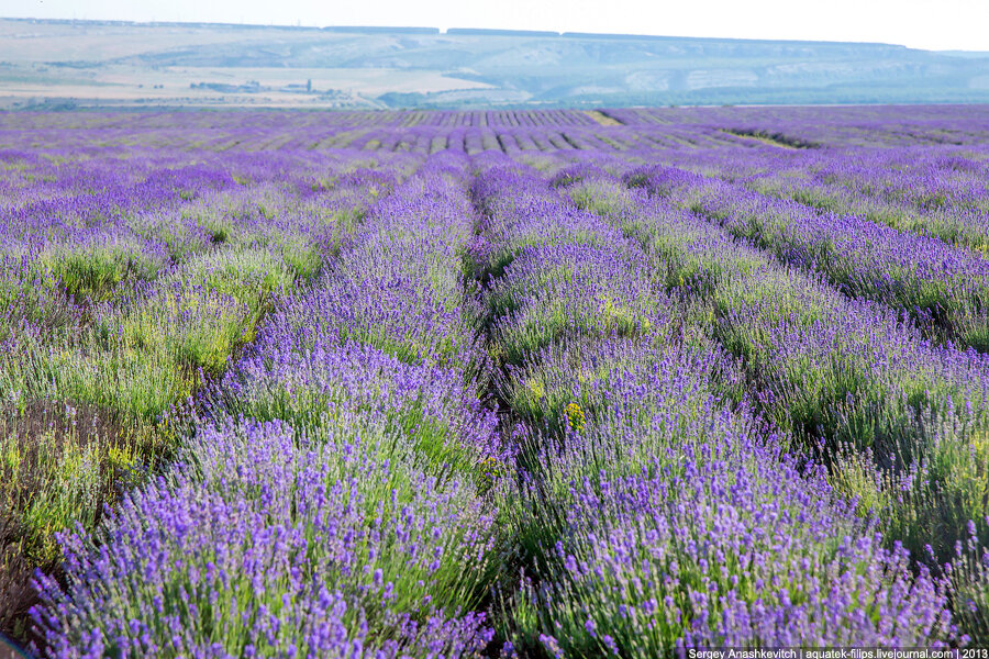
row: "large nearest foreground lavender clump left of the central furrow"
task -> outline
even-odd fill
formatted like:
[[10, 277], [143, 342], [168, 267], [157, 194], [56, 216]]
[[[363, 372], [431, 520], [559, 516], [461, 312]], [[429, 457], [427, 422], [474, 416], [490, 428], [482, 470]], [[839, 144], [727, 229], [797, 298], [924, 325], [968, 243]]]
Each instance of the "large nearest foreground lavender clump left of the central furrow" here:
[[280, 422], [207, 427], [95, 537], [64, 536], [67, 587], [42, 577], [35, 613], [48, 656], [482, 648], [484, 617], [455, 606], [477, 596], [491, 515], [471, 487], [392, 459], [402, 438], [347, 421], [319, 436]]

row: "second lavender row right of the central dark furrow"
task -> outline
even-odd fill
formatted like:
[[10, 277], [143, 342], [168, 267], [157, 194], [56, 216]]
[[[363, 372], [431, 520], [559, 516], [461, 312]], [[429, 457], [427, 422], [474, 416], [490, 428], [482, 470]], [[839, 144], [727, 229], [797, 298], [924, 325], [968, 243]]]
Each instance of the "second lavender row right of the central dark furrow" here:
[[[892, 310], [845, 298], [603, 170], [566, 177], [581, 206], [643, 244], [668, 289], [710, 300], [715, 335], [742, 358], [759, 409], [827, 461], [831, 483], [877, 520], [888, 541], [938, 571], [938, 561], [955, 560], [955, 611], [971, 637], [984, 638], [986, 356], [932, 345]], [[643, 174], [625, 178], [641, 183]]]

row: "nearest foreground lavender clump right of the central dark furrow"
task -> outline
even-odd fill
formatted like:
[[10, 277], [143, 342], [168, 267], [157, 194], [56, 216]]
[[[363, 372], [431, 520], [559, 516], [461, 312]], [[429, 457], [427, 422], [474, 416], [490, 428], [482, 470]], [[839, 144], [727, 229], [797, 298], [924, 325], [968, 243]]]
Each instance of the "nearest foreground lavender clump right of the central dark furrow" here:
[[926, 646], [951, 634], [944, 590], [914, 578], [902, 548], [849, 525], [786, 460], [724, 439], [742, 444], [687, 445], [638, 474], [571, 487], [559, 504], [578, 530], [556, 547], [558, 574], [520, 593], [548, 607], [557, 644], [658, 656]]

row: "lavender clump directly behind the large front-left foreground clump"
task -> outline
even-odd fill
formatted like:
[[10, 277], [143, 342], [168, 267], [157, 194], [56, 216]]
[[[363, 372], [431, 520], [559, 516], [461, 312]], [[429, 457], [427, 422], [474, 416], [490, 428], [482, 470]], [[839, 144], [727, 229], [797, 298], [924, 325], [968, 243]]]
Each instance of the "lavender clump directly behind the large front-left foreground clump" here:
[[216, 383], [224, 410], [300, 427], [368, 413], [416, 437], [437, 463], [471, 468], [501, 456], [497, 418], [460, 373], [404, 364], [367, 344], [321, 339], [302, 351], [279, 338], [266, 328], [251, 356]]

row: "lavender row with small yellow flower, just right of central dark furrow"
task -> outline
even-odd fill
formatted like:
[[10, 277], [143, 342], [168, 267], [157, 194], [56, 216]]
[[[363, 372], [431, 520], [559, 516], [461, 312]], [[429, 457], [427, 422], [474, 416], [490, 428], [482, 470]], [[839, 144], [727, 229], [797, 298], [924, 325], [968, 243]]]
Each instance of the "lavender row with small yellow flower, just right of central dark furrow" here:
[[496, 163], [475, 194], [502, 398], [527, 421], [501, 504], [521, 571], [510, 650], [954, 637], [944, 585], [715, 393], [734, 365], [635, 241], [531, 170]]

